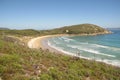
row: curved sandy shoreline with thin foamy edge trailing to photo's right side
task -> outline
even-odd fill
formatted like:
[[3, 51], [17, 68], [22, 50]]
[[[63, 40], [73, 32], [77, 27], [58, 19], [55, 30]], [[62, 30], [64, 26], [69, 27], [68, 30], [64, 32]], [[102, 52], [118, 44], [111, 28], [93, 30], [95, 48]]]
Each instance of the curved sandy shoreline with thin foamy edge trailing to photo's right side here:
[[[62, 55], [68, 55], [68, 56], [77, 56], [77, 55], [72, 54], [72, 53], [68, 53], [68, 52], [65, 52], [65, 51], [58, 50], [54, 46], [51, 46], [48, 43], [48, 39], [49, 38], [59, 37], [59, 36], [75, 36], [75, 35], [58, 34], [58, 35], [40, 36], [40, 37], [31, 39], [28, 42], [28, 47], [29, 48], [33, 48], [33, 49], [40, 49], [41, 48], [43, 50], [49, 50], [50, 52], [53, 52], [53, 53], [56, 53], [56, 54], [62, 54]], [[78, 36], [78, 35], [76, 35], [76, 36]], [[81, 35], [81, 36], [83, 36], [83, 35]], [[80, 57], [82, 59], [87, 59], [87, 60], [93, 60], [93, 59], [86, 58], [86, 57], [83, 57], [83, 56], [77, 56], [77, 57]], [[108, 63], [105, 60], [95, 60], [95, 61], [97, 61], [97, 62], [103, 62], [103, 63], [109, 64], [109, 65], [112, 65], [112, 66], [119, 67], [119, 66], [114, 65], [112, 63]]]

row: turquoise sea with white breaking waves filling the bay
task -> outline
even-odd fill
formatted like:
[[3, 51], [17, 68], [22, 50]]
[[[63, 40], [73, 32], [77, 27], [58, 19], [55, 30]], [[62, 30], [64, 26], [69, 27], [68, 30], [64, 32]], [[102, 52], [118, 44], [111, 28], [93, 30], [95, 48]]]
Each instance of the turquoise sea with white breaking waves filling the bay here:
[[50, 38], [48, 45], [66, 54], [120, 67], [120, 30], [111, 31], [113, 34]]

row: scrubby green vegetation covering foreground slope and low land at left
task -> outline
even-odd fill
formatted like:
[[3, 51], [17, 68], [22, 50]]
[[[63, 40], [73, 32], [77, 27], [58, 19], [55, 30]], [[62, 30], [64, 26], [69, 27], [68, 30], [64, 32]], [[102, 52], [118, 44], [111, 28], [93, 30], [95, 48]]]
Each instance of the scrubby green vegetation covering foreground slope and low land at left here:
[[[1, 30], [1, 80], [120, 80], [120, 68], [100, 62], [29, 49], [12, 36], [46, 35], [50, 31]], [[56, 32], [56, 31], [55, 31]], [[52, 32], [50, 32], [53, 34]], [[9, 34], [9, 35], [8, 35]]]

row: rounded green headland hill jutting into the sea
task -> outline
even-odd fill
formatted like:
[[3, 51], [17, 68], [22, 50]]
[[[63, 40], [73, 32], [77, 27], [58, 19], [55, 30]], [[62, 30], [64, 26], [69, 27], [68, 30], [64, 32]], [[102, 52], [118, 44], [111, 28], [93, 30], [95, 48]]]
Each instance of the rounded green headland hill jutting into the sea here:
[[110, 31], [94, 25], [94, 24], [79, 24], [72, 26], [65, 26], [62, 28], [56, 28], [50, 31], [53, 34], [106, 34]]

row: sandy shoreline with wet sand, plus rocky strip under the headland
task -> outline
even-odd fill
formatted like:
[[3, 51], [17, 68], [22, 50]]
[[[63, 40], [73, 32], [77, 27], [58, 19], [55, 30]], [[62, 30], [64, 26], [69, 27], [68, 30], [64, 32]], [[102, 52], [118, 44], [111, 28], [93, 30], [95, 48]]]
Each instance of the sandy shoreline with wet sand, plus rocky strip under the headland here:
[[[72, 53], [64, 52], [61, 50], [58, 50], [50, 45], [48, 45], [48, 38], [52, 37], [60, 37], [60, 36], [96, 36], [96, 35], [104, 35], [104, 34], [111, 34], [112, 32], [99, 32], [99, 33], [93, 33], [93, 34], [55, 34], [55, 35], [45, 35], [45, 36], [39, 36], [36, 38], [32, 38], [27, 42], [27, 46], [29, 48], [33, 49], [43, 49], [43, 50], [49, 50], [50, 52], [54, 53], [62, 53], [63, 55], [69, 55], [69, 56], [76, 56]], [[78, 56], [77, 56], [78, 57]], [[80, 56], [81, 58], [84, 58]], [[86, 58], [84, 58], [86, 59]], [[88, 58], [87, 58], [88, 59]]]

